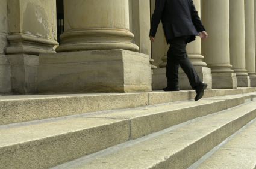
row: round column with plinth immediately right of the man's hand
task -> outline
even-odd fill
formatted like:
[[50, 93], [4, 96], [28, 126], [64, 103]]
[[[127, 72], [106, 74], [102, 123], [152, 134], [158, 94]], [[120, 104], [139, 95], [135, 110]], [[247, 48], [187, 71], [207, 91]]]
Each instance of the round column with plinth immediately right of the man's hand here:
[[202, 55], [211, 68], [213, 89], [235, 89], [237, 79], [229, 57], [229, 0], [202, 0], [202, 23], [208, 32]]

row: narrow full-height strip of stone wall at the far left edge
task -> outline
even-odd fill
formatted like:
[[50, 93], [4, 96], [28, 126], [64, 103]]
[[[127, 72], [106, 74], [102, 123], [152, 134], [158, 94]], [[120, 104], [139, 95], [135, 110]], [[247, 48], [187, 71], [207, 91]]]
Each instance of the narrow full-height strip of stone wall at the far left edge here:
[[7, 0], [0, 2], [0, 93], [11, 92], [11, 65], [4, 53], [7, 46], [8, 16]]

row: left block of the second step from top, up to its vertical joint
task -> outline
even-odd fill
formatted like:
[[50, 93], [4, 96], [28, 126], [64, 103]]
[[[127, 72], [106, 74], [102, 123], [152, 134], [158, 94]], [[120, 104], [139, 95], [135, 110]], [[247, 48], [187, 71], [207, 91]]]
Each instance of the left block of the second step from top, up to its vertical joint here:
[[0, 168], [51, 168], [130, 140], [130, 123], [81, 117], [2, 129], [0, 135]]

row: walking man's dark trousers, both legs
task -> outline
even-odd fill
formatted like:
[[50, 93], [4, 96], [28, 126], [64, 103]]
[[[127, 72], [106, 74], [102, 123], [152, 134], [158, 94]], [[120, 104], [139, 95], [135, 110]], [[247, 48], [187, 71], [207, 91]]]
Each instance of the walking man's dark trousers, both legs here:
[[186, 45], [190, 39], [190, 36], [175, 37], [171, 40], [167, 40], [170, 44], [170, 48], [167, 53], [167, 65], [166, 65], [166, 77], [168, 86], [175, 86], [179, 83], [178, 69], [179, 65], [189, 78], [189, 83], [192, 89], [195, 89], [202, 80], [198, 77], [192, 63], [190, 62]]

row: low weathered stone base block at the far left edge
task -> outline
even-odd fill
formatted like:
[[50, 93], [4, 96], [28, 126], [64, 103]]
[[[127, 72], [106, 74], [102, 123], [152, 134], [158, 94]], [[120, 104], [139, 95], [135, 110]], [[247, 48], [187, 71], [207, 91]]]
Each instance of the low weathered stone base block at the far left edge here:
[[0, 54], [0, 93], [11, 92], [11, 65], [5, 55]]

